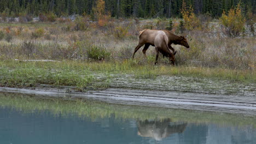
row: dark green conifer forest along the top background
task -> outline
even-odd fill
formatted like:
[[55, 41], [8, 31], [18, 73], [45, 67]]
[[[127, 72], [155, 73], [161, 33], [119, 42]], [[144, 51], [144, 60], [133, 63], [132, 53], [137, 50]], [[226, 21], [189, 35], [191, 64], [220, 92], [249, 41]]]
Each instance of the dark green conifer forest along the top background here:
[[[99, 0], [0, 0], [0, 13], [5, 16], [54, 13], [57, 16], [94, 13]], [[103, 1], [103, 0], [101, 0]], [[181, 17], [183, 0], [104, 0], [105, 11], [113, 17]], [[255, 0], [185, 0], [194, 8], [195, 14], [220, 17], [238, 3], [244, 13], [256, 13]]]

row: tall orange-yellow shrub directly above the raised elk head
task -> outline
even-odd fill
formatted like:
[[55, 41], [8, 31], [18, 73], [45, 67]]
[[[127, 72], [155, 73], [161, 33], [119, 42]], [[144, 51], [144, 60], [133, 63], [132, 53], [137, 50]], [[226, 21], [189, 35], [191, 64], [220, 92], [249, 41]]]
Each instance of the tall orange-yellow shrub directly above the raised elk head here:
[[194, 13], [194, 9], [190, 5], [187, 6], [185, 1], [183, 0], [182, 9], [181, 9], [182, 17], [184, 19], [184, 26], [187, 30], [200, 30], [202, 29], [201, 22], [198, 17], [196, 17]]

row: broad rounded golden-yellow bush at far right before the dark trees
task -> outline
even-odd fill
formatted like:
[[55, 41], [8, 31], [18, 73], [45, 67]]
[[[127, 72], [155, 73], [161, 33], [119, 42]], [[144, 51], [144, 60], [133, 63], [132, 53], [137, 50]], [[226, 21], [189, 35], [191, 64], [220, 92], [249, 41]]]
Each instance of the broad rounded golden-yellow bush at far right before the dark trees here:
[[220, 22], [224, 26], [225, 32], [230, 37], [237, 37], [243, 32], [246, 19], [242, 15], [240, 4], [236, 8], [231, 8], [226, 15], [223, 11], [222, 17], [219, 18]]

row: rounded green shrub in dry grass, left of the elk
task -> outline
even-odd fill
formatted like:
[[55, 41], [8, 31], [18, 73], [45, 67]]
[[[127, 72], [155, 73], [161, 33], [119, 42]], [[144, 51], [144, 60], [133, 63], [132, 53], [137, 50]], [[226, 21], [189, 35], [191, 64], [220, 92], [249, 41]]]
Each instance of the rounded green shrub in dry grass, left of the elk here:
[[91, 45], [87, 49], [88, 58], [102, 61], [110, 57], [110, 52], [106, 51], [103, 46]]

